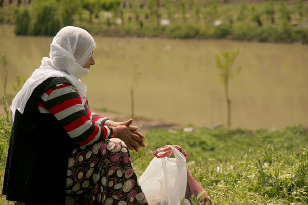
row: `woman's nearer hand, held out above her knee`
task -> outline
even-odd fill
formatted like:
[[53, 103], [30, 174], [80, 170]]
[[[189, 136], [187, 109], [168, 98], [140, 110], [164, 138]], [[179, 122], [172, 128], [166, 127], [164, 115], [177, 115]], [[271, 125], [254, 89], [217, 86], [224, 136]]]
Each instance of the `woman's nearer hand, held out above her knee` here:
[[[129, 121], [130, 120], [127, 122]], [[144, 147], [145, 145], [143, 143], [144, 136], [138, 132], [137, 129], [138, 127], [136, 126], [118, 125], [113, 127], [114, 137], [124, 141], [128, 149], [138, 152], [139, 148]]]

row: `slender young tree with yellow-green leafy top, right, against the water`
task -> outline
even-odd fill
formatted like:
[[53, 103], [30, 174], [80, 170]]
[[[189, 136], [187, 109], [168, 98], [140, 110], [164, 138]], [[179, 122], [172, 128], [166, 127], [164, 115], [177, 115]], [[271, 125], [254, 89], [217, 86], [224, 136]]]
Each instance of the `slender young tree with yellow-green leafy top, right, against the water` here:
[[[230, 53], [229, 51], [223, 51], [222, 57], [223, 60], [220, 59], [219, 55], [215, 55], [216, 58], [216, 66], [219, 70], [219, 76], [221, 83], [225, 89], [225, 98], [227, 103], [227, 124], [228, 127], [231, 126], [231, 100], [229, 97], [229, 81], [234, 76], [232, 72], [232, 65], [236, 56], [239, 54], [239, 49]], [[241, 72], [241, 67], [238, 67], [236, 70], [236, 75]]]

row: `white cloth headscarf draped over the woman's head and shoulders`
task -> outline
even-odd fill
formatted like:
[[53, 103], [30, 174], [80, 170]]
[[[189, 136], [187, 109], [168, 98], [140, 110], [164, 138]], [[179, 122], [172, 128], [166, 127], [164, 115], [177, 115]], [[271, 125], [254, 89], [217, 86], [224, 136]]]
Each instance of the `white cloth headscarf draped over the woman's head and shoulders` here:
[[82, 66], [91, 58], [95, 48], [94, 39], [86, 30], [73, 26], [62, 28], [53, 38], [49, 58], [42, 59], [40, 68], [32, 73], [13, 99], [11, 105], [13, 119], [16, 109], [24, 113], [26, 103], [34, 89], [50, 77], [65, 77], [78, 89], [83, 98], [87, 86], [80, 79], [85, 77], [90, 69]]

